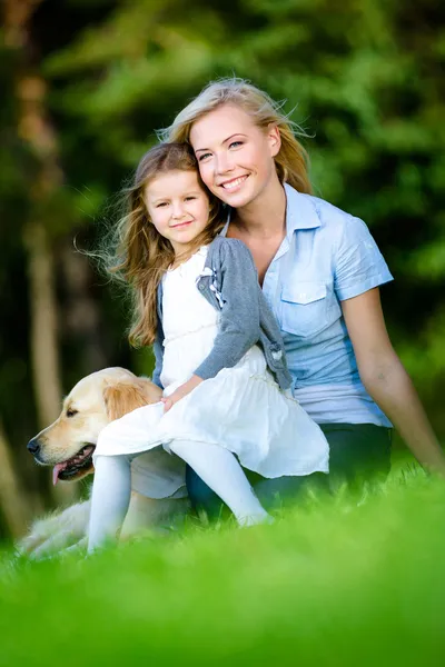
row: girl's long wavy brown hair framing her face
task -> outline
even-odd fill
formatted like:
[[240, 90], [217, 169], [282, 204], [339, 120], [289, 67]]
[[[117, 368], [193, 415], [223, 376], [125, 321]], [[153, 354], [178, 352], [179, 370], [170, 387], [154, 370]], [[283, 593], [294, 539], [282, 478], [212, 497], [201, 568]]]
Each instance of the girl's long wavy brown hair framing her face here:
[[[177, 257], [168, 239], [151, 223], [144, 195], [148, 183], [168, 171], [195, 171], [199, 186], [209, 198], [207, 227], [194, 240], [185, 256]], [[123, 191], [127, 213], [112, 235], [111, 251], [106, 253], [106, 269], [131, 288], [134, 300], [129, 341], [134, 347], [155, 341], [158, 315], [157, 289], [162, 275], [175, 261], [190, 257], [200, 246], [210, 243], [224, 227], [222, 205], [199, 177], [192, 150], [186, 143], [165, 142], [141, 158], [132, 185]]]

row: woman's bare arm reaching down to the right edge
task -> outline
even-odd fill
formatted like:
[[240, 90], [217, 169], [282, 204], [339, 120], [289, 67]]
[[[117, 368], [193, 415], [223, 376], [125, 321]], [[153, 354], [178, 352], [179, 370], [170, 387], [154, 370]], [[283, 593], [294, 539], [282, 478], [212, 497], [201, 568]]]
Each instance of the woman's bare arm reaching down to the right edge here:
[[445, 475], [445, 457], [385, 326], [378, 288], [342, 301], [360, 379], [416, 457]]

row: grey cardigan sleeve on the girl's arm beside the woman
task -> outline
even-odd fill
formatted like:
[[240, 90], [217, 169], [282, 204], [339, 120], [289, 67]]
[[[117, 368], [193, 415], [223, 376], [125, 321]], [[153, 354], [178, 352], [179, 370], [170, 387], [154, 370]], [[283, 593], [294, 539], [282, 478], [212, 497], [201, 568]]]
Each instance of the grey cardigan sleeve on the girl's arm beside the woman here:
[[248, 248], [237, 239], [220, 246], [222, 300], [214, 347], [195, 370], [207, 380], [222, 368], [231, 368], [259, 340], [258, 275]]

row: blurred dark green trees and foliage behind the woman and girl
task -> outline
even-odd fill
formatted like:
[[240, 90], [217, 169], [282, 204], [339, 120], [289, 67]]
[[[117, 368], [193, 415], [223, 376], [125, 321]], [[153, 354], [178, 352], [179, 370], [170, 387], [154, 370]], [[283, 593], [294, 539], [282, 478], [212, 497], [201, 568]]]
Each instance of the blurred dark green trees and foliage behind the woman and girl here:
[[14, 528], [3, 499], [0, 536], [60, 501], [26, 442], [62, 392], [105, 366], [150, 371], [125, 301], [73, 239], [95, 247], [155, 130], [221, 76], [286, 100], [316, 195], [370, 227], [396, 278], [393, 341], [444, 437], [441, 3], [3, 0], [1, 37], [0, 454], [27, 504]]

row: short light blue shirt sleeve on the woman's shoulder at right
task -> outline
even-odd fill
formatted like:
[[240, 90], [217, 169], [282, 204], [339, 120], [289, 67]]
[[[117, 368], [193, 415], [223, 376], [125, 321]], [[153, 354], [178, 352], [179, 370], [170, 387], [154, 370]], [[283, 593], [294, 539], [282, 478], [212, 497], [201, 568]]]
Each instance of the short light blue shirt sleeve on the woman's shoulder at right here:
[[340, 301], [393, 280], [363, 220], [345, 216], [334, 257], [334, 289]]

